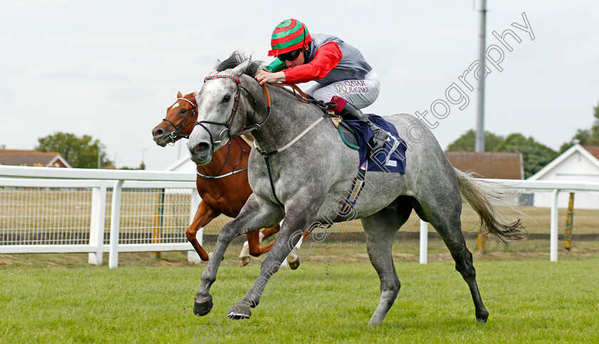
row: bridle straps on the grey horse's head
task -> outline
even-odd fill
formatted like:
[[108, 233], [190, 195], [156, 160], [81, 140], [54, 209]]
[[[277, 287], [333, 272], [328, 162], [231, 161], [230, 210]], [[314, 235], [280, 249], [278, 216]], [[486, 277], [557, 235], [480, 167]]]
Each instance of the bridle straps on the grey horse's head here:
[[[270, 117], [270, 98], [268, 96], [266, 84], [264, 84], [264, 85], [262, 85], [262, 87], [265, 89], [265, 93], [267, 95], [267, 103], [268, 103], [267, 108], [266, 108], [267, 116], [264, 119], [264, 121], [262, 121], [260, 123], [255, 123], [252, 126], [246, 126], [242, 129], [242, 131], [239, 131], [237, 133], [231, 133], [231, 123], [235, 120], [235, 116], [237, 116], [237, 108], [239, 107], [239, 98], [240, 98], [239, 96], [240, 96], [241, 90], [245, 91], [245, 93], [248, 96], [250, 96], [250, 98], [252, 98], [252, 101], [254, 102], [254, 113], [256, 111], [256, 98], [254, 98], [254, 96], [252, 96], [252, 93], [250, 93], [250, 91], [247, 91], [247, 88], [245, 88], [241, 84], [241, 80], [239, 78], [232, 76], [232, 75], [216, 74], [216, 75], [212, 75], [212, 76], [206, 76], [206, 78], [204, 79], [204, 83], [210, 79], [220, 79], [220, 78], [232, 79], [237, 83], [237, 90], [235, 91], [235, 97], [233, 98], [233, 107], [231, 109], [231, 114], [229, 115], [229, 118], [227, 118], [227, 121], [225, 121], [225, 122], [196, 121], [194, 124], [194, 126], [201, 126], [202, 128], [204, 128], [205, 131], [208, 132], [208, 135], [210, 136], [210, 143], [212, 143], [212, 145], [213, 145], [213, 151], [214, 151], [214, 145], [216, 143], [220, 144], [220, 146], [225, 146], [225, 144], [227, 144], [227, 142], [229, 142], [230, 139], [235, 136], [241, 136], [245, 133], [250, 133], [252, 131], [260, 129], [262, 124], [264, 124]], [[252, 117], [254, 116], [254, 113], [252, 113]], [[222, 131], [220, 131], [220, 133], [218, 134], [217, 140], [214, 140], [212, 137], [212, 133], [210, 133], [208, 128], [206, 128], [205, 124], [214, 124], [217, 126], [224, 126], [225, 128], [222, 129]]]

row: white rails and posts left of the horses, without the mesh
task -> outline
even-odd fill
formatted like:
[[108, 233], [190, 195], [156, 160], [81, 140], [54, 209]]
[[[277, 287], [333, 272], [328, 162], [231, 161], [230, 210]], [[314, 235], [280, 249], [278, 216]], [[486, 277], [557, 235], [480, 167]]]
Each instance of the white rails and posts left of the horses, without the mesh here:
[[[195, 192], [195, 173], [170, 171], [115, 171], [87, 168], [44, 168], [29, 166], [0, 166], [0, 186], [17, 188], [91, 188], [91, 216], [88, 221], [87, 243], [58, 245], [3, 245], [0, 253], [89, 253], [89, 262], [102, 263], [102, 255], [109, 252], [108, 266], [116, 268], [119, 252], [193, 251], [186, 240], [175, 243], [121, 243], [121, 196], [123, 188], [161, 188], [189, 193], [188, 221], [193, 218], [200, 198]], [[111, 201], [110, 243], [104, 244], [107, 189], [113, 188]], [[0, 213], [0, 217], [3, 215]], [[9, 217], [11, 214], [5, 214]], [[185, 226], [189, 222], [185, 223]], [[181, 233], [183, 234], [183, 233]], [[202, 231], [198, 232], [201, 243]], [[183, 236], [184, 238], [184, 236]], [[108, 249], [108, 250], [107, 250]]]

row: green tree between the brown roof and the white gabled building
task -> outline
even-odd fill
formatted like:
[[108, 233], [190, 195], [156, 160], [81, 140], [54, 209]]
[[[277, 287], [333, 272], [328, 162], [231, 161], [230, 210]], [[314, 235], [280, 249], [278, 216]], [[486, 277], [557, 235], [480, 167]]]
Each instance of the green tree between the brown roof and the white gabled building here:
[[522, 153], [524, 178], [537, 173], [558, 156], [553, 149], [536, 142], [532, 137], [526, 138], [521, 133], [510, 134], [495, 148], [495, 151]]

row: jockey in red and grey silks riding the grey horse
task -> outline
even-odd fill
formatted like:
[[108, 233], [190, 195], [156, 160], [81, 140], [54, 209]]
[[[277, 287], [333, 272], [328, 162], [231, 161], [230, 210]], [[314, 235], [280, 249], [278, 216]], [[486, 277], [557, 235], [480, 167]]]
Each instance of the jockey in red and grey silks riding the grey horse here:
[[377, 100], [380, 82], [358, 49], [335, 36], [310, 35], [308, 28], [296, 19], [277, 25], [270, 44], [272, 50], [268, 56], [275, 56], [275, 61], [256, 73], [260, 85], [316, 81], [317, 85], [306, 93], [320, 101], [335, 101], [338, 106], [332, 110], [342, 118], [367, 123], [374, 131], [373, 152], [384, 146], [386, 131], [374, 126], [368, 116], [359, 111]]

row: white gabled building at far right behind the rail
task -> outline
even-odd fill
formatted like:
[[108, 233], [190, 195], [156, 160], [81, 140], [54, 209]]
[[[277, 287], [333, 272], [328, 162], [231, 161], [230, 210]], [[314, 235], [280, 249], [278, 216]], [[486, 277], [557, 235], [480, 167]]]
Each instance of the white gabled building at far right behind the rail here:
[[[585, 181], [599, 183], [599, 147], [576, 143], [551, 163], [535, 173], [529, 181]], [[568, 192], [559, 195], [558, 206], [568, 207]], [[534, 193], [534, 206], [551, 206], [551, 191]], [[577, 192], [574, 208], [599, 209], [599, 193]]]

